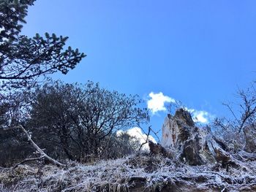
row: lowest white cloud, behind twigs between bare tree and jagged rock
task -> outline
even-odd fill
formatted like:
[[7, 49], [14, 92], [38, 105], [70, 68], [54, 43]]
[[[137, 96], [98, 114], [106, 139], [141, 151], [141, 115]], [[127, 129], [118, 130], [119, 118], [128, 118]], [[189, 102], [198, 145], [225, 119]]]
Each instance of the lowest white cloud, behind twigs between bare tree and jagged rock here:
[[[135, 137], [136, 139], [138, 139], [140, 141], [140, 145], [146, 142], [147, 136], [146, 134], [143, 133], [143, 131], [139, 127], [129, 128], [127, 129], [127, 131], [119, 130], [116, 132], [116, 134], [118, 136], [124, 132], [129, 134], [131, 137]], [[151, 140], [151, 142], [157, 143], [154, 137], [152, 137], [151, 135], [148, 136], [148, 139]], [[148, 143], [143, 145], [142, 149], [149, 150]]]

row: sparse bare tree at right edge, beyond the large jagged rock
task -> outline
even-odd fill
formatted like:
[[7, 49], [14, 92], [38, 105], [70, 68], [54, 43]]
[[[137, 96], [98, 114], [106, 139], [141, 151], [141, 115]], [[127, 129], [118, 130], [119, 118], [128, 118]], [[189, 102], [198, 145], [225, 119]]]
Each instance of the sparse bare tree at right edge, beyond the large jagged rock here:
[[[235, 105], [236, 110], [234, 110], [234, 104], [224, 104], [233, 118], [217, 118], [214, 121], [214, 125], [220, 129], [222, 136], [226, 137], [225, 139], [233, 140], [234, 142], [246, 142], [246, 146], [248, 146], [250, 142], [251, 147], [255, 147], [256, 150], [256, 146], [252, 146], [256, 145], [256, 142], [254, 144], [253, 141], [256, 139], [255, 131], [253, 131], [256, 129], [255, 82], [252, 82], [252, 85], [246, 90], [239, 89], [237, 93], [240, 102], [238, 105]], [[244, 135], [241, 135], [241, 131], [244, 132]], [[253, 137], [255, 138], [253, 139]]]

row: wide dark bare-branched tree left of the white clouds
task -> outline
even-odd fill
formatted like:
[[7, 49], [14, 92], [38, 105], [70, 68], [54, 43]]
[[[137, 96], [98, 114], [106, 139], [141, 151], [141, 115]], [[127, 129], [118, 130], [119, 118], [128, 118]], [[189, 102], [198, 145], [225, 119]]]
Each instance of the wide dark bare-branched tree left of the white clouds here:
[[114, 131], [148, 121], [138, 96], [108, 91], [98, 83], [55, 82], [37, 89], [35, 96], [29, 126], [44, 145], [58, 145], [72, 160], [100, 156], [104, 139]]

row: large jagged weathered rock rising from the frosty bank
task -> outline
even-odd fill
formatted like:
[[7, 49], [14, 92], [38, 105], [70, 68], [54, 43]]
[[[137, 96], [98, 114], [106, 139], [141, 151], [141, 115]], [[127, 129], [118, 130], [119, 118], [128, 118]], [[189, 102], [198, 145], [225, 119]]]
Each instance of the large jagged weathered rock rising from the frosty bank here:
[[165, 118], [161, 144], [176, 151], [178, 158], [189, 165], [220, 162], [225, 166], [231, 160], [225, 142], [214, 137], [208, 128], [197, 128], [190, 113], [184, 109]]

